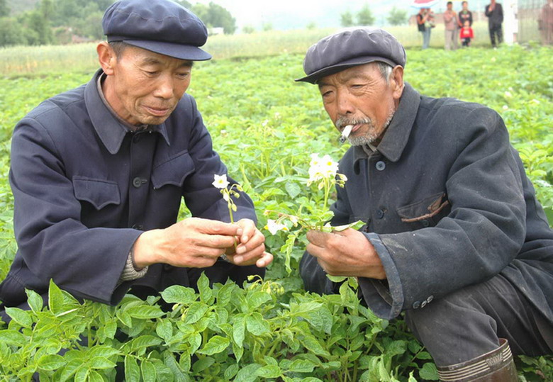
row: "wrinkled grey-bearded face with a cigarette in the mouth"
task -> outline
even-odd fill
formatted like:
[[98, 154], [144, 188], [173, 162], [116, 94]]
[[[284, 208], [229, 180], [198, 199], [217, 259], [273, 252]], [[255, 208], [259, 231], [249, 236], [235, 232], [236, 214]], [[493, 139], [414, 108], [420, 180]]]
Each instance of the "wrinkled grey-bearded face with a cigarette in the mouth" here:
[[[396, 67], [401, 69], [401, 67]], [[323, 77], [318, 82], [325, 110], [338, 131], [353, 125], [352, 145], [378, 144], [388, 127], [401, 92], [401, 84], [394, 77], [390, 84], [382, 77], [376, 64], [364, 64]]]

